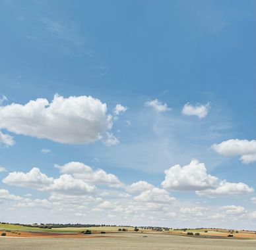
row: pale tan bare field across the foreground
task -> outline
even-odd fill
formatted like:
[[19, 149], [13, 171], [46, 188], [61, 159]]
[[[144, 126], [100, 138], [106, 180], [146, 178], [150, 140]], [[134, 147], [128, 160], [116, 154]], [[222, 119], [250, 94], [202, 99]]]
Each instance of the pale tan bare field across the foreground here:
[[98, 234], [97, 238], [0, 238], [0, 249], [5, 250], [45, 250], [45, 249], [207, 249], [207, 250], [254, 250], [256, 240], [246, 239], [205, 239], [174, 236], [172, 234], [148, 234], [124, 232], [117, 234]]

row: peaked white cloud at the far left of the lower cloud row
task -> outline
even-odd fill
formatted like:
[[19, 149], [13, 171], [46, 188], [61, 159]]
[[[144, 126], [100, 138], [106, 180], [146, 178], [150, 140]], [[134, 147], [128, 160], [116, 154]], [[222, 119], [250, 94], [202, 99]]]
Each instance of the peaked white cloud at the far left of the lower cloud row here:
[[3, 183], [18, 186], [40, 189], [53, 183], [53, 178], [42, 174], [39, 168], [32, 168], [30, 172], [11, 172], [3, 179]]

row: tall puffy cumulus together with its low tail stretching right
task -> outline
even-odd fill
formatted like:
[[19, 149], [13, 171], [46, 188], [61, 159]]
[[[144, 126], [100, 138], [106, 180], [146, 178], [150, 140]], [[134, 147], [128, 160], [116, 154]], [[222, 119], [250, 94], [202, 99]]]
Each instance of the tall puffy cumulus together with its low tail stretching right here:
[[219, 180], [207, 174], [205, 164], [193, 160], [186, 166], [179, 164], [164, 172], [166, 174], [162, 187], [172, 190], [191, 191], [197, 195], [216, 197], [221, 195], [244, 195], [253, 192], [253, 188], [243, 183], [231, 183]]

